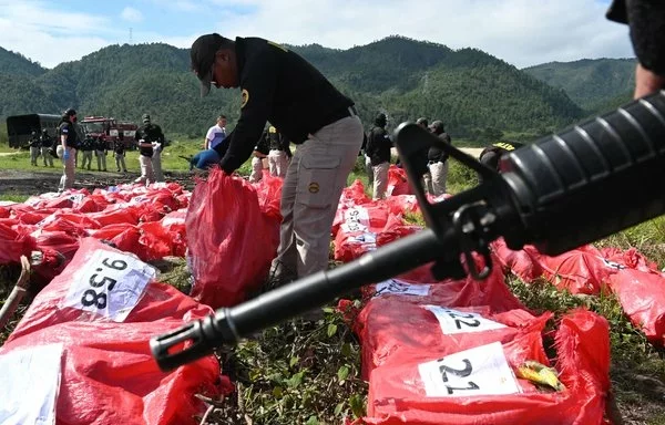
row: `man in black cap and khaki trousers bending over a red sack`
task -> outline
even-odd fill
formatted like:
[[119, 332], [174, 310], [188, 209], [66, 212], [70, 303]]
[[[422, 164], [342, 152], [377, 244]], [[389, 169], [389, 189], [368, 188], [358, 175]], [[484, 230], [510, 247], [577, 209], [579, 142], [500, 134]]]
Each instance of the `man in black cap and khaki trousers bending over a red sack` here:
[[252, 156], [266, 122], [297, 145], [282, 190], [279, 248], [264, 289], [326, 270], [337, 204], [362, 144], [354, 102], [300, 55], [265, 39], [205, 34], [190, 56], [202, 95], [213, 83], [241, 92], [237, 124], [217, 149], [225, 173]]

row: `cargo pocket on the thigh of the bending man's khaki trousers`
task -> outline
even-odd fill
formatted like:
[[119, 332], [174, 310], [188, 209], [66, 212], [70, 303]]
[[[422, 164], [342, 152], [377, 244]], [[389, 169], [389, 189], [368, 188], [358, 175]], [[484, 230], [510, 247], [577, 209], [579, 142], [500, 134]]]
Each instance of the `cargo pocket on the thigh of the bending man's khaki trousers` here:
[[310, 208], [326, 208], [337, 201], [331, 199], [337, 173], [339, 173], [339, 158], [301, 158], [296, 203]]

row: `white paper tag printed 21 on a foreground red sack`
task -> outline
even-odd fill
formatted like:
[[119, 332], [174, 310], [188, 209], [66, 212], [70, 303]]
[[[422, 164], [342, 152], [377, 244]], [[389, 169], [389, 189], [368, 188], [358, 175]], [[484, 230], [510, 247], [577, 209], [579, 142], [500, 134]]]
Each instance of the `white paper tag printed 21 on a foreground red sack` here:
[[428, 397], [505, 395], [521, 392], [500, 342], [418, 365]]

